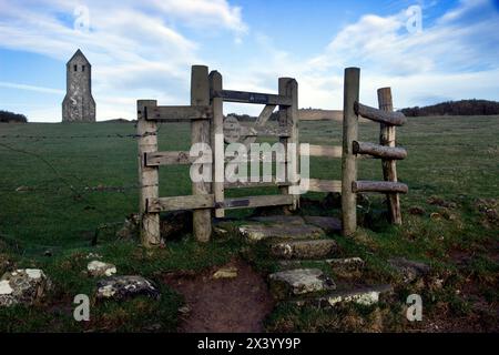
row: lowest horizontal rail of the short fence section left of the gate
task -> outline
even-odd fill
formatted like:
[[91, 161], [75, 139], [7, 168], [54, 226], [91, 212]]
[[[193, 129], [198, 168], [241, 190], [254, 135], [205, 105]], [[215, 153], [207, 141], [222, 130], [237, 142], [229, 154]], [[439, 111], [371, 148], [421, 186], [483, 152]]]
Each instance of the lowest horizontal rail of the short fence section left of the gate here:
[[147, 200], [147, 212], [167, 212], [181, 210], [212, 209], [215, 206], [213, 194], [160, 197]]

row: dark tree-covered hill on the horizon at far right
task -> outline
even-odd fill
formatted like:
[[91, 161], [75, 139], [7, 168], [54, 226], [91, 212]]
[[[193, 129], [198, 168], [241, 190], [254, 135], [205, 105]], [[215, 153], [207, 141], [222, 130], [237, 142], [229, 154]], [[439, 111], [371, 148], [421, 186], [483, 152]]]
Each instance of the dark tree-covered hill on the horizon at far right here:
[[499, 114], [499, 102], [487, 100], [448, 101], [424, 108], [407, 108], [400, 111], [406, 116], [490, 115]]

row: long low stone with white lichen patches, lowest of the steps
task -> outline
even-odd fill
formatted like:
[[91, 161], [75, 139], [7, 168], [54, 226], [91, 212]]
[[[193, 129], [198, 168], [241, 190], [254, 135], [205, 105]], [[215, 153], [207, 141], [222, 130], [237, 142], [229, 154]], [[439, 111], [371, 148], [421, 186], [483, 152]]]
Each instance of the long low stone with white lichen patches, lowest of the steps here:
[[296, 306], [313, 306], [317, 308], [330, 308], [339, 304], [355, 302], [361, 305], [373, 305], [379, 302], [383, 295], [388, 295], [394, 291], [391, 285], [366, 286], [349, 291], [333, 291], [327, 295], [293, 300], [289, 303]]

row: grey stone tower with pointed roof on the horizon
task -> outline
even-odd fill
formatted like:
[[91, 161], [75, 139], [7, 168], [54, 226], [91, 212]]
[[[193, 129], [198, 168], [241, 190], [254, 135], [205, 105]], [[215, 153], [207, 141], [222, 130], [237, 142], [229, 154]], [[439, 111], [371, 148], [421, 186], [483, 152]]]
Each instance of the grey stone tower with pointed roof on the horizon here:
[[95, 122], [92, 98], [92, 65], [78, 50], [65, 64], [67, 89], [62, 102], [62, 122]]

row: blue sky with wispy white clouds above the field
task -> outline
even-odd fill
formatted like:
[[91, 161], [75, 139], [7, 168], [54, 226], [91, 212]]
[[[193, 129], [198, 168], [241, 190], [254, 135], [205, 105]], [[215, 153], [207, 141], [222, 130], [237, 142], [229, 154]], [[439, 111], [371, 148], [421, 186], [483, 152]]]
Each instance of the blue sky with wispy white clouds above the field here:
[[499, 0], [0, 0], [0, 110], [60, 122], [77, 49], [98, 121], [135, 119], [139, 99], [189, 104], [193, 64], [230, 90], [296, 78], [302, 108], [340, 110], [347, 67], [370, 105], [381, 87], [396, 108], [499, 100]]

